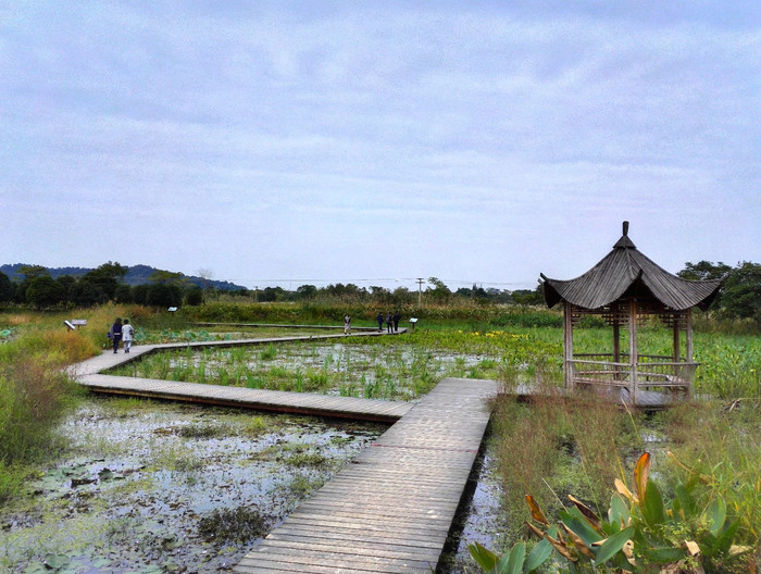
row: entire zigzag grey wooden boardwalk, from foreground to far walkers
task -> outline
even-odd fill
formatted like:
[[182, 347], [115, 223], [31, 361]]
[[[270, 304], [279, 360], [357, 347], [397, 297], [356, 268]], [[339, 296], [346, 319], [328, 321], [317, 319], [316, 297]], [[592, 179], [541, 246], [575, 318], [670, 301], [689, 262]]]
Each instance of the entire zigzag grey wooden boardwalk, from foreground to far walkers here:
[[473, 469], [497, 382], [447, 378], [412, 404], [101, 374], [163, 349], [336, 337], [345, 335], [140, 346], [129, 354], [107, 351], [71, 366], [68, 373], [98, 392], [396, 422], [261, 540], [235, 571], [431, 573]]

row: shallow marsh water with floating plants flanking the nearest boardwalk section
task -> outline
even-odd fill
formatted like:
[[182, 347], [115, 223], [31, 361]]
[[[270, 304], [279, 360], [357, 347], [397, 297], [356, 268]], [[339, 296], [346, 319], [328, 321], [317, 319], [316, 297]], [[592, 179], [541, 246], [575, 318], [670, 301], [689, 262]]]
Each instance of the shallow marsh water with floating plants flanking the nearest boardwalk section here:
[[[255, 544], [385, 430], [290, 415], [92, 397], [59, 433], [68, 447], [0, 515], [0, 571], [213, 573]], [[491, 545], [499, 486], [488, 453], [440, 572]]]

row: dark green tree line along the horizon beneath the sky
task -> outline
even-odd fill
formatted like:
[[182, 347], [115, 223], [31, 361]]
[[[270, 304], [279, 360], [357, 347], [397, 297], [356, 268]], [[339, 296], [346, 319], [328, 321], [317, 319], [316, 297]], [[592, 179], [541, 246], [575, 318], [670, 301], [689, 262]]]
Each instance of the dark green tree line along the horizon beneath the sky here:
[[[26, 265], [21, 269], [23, 279], [12, 282], [0, 272], [0, 303], [15, 302], [37, 309], [55, 307], [91, 307], [108, 301], [139, 303], [151, 307], [198, 305], [209, 298], [221, 295], [242, 298], [249, 301], [316, 301], [333, 300], [342, 302], [373, 302], [384, 305], [402, 307], [417, 303], [433, 304], [542, 304], [541, 289], [495, 289], [473, 285], [452, 291], [441, 279], [429, 277], [425, 289], [419, 291], [407, 287], [394, 290], [380, 286], [359, 287], [354, 284], [336, 283], [325, 287], [301, 285], [296, 290], [283, 287], [264, 289], [219, 290], [202, 288], [192, 284], [182, 273], [169, 271], [153, 272], [149, 283], [127, 285], [124, 276], [128, 267], [109, 261], [80, 276], [63, 275], [53, 278], [40, 265]], [[685, 279], [722, 279], [722, 290], [712, 305], [722, 319], [751, 320], [761, 326], [761, 264], [741, 262], [736, 266], [723, 262], [687, 262], [677, 275]]]

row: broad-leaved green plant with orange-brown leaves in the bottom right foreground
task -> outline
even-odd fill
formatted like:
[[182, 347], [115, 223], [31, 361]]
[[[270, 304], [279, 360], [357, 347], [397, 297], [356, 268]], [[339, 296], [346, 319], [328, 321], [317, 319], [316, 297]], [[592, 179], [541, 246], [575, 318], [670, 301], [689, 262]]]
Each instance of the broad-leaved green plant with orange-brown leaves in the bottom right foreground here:
[[[673, 499], [664, 501], [649, 477], [650, 464], [648, 452], [637, 461], [634, 491], [616, 478], [607, 520], [569, 496], [572, 504], [560, 513], [558, 528], [528, 495], [536, 524], [526, 525], [541, 542], [549, 542], [565, 572], [756, 572], [752, 558], [747, 557], [751, 548], [733, 545], [739, 521], [727, 515], [724, 499], [710, 487], [710, 477], [679, 463], [689, 478], [676, 485]], [[516, 547], [494, 562], [479, 545], [469, 549], [488, 573], [529, 573], [539, 567], [534, 562], [519, 564], [521, 550], [515, 556]]]

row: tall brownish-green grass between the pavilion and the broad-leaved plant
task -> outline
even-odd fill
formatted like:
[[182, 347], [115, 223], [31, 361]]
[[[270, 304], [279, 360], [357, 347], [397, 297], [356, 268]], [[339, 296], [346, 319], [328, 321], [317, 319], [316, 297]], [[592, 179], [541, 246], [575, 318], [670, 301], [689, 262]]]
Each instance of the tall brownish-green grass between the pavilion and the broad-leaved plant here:
[[[567, 495], [604, 512], [616, 477], [629, 483], [637, 457], [658, 459], [659, 482], [673, 488], [700, 472], [738, 519], [739, 544], [759, 551], [761, 538], [761, 402], [698, 402], [658, 415], [629, 412], [585, 397], [536, 398], [528, 403], [501, 396], [491, 436], [504, 491], [509, 529], [503, 546], [523, 539], [528, 519], [524, 497], [533, 495], [557, 515]], [[671, 494], [670, 494], [671, 496]], [[708, 500], [701, 501], [708, 503]]]

